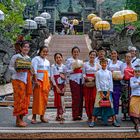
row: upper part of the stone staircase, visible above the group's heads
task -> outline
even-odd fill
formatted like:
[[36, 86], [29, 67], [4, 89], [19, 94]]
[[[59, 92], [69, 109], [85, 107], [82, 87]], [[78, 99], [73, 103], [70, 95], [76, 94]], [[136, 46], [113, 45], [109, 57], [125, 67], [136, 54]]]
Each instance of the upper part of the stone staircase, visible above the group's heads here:
[[88, 58], [87, 35], [54, 35], [49, 45], [49, 60], [54, 63], [54, 54], [62, 53], [64, 60], [71, 56], [71, 49], [74, 46], [80, 48], [80, 59]]

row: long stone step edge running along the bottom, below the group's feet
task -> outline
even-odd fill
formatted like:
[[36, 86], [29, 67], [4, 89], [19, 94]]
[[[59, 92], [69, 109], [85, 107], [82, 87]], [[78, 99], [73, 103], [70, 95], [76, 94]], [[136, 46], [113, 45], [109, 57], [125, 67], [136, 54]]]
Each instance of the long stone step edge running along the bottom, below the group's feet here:
[[0, 137], [3, 139], [131, 139], [138, 140], [140, 133], [133, 127], [0, 127]]

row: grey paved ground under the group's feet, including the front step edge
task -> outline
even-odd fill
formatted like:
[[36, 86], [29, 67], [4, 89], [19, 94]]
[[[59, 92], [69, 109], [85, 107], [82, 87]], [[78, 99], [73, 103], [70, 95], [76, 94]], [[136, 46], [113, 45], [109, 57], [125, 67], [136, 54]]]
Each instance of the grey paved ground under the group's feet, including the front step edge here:
[[28, 126], [18, 128], [15, 126], [12, 111], [13, 107], [0, 107], [0, 138], [140, 138], [131, 121], [121, 121], [121, 114], [118, 116], [121, 123], [119, 128], [113, 127], [111, 123], [109, 126], [103, 126], [100, 118], [96, 127], [89, 128], [85, 110], [82, 121], [72, 121], [71, 109], [67, 108], [64, 115], [66, 121], [60, 124], [55, 121], [56, 109], [47, 109], [45, 116], [49, 119], [49, 123], [41, 123], [38, 119], [37, 124], [31, 124], [31, 109], [29, 109], [29, 114], [25, 117]]

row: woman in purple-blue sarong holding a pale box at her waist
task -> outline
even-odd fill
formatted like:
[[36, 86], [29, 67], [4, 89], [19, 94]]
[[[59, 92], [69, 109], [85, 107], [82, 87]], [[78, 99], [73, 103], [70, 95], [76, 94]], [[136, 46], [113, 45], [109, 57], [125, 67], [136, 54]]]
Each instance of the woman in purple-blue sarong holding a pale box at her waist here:
[[118, 53], [117, 51], [113, 50], [111, 52], [111, 60], [108, 64], [108, 70], [112, 72], [113, 76], [113, 107], [115, 114], [117, 115], [119, 113], [119, 101], [121, 96], [121, 83], [122, 80], [122, 74], [121, 74], [121, 66], [122, 61], [118, 60]]

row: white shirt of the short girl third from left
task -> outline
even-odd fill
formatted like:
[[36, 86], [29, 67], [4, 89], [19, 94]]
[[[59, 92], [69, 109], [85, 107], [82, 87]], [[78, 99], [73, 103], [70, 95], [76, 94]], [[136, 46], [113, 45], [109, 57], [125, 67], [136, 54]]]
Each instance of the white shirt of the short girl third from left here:
[[[52, 80], [52, 83], [53, 85], [56, 85], [56, 82], [54, 80], [54, 75], [59, 75], [60, 73], [65, 73], [65, 65], [64, 64], [61, 64], [61, 65], [58, 65], [58, 64], [53, 64], [51, 66], [51, 80]], [[65, 80], [63, 80], [61, 77], [58, 78], [58, 83], [59, 84], [62, 84], [64, 83]]]

